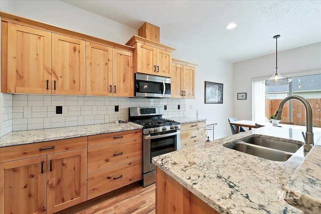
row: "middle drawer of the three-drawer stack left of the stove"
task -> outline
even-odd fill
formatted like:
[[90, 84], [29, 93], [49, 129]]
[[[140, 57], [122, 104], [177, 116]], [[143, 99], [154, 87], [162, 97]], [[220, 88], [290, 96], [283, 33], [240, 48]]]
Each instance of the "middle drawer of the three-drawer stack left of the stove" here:
[[88, 148], [88, 173], [141, 159], [141, 138]]

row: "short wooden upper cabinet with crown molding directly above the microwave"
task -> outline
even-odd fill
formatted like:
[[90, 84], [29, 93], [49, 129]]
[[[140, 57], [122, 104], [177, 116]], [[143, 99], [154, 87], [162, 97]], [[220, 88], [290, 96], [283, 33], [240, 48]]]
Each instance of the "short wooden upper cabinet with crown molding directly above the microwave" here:
[[134, 35], [126, 45], [135, 48], [134, 73], [171, 77], [173, 48]]

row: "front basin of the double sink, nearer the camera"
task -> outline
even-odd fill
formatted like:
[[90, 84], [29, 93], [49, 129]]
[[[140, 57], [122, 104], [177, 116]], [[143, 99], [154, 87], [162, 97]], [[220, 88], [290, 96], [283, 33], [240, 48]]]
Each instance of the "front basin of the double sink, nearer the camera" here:
[[270, 149], [263, 146], [245, 143], [242, 141], [230, 145], [225, 145], [225, 147], [275, 161], [287, 161], [287, 159], [289, 159], [293, 154], [289, 152], [279, 151], [276, 149]]

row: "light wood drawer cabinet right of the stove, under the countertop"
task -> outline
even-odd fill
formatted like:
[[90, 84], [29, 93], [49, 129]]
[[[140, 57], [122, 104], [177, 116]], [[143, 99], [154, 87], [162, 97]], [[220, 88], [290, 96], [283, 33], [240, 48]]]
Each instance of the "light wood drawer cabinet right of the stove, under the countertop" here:
[[205, 121], [184, 123], [181, 125], [181, 145], [194, 145], [196, 143], [205, 142], [206, 129]]

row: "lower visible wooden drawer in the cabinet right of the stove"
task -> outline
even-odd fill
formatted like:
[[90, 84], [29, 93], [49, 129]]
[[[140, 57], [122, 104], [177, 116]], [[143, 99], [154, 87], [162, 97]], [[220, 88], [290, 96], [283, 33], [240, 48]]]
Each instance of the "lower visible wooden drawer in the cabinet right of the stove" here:
[[195, 130], [187, 130], [181, 132], [182, 147], [193, 145], [195, 143], [205, 142], [205, 127]]

